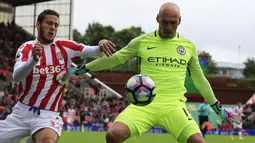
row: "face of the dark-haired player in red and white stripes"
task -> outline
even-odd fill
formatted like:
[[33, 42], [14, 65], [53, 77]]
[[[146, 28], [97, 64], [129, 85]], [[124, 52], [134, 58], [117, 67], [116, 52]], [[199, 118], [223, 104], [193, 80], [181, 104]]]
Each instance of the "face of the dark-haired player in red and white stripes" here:
[[37, 24], [39, 36], [44, 43], [51, 43], [56, 37], [59, 19], [55, 15], [46, 15], [42, 23]]

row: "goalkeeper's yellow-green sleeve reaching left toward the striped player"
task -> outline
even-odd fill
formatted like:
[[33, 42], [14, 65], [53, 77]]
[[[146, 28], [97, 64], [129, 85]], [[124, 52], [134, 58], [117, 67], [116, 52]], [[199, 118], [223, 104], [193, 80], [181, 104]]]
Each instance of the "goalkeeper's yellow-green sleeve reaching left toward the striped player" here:
[[118, 65], [124, 64], [127, 60], [137, 56], [139, 48], [139, 40], [133, 39], [127, 46], [117, 51], [111, 57], [98, 58], [88, 64], [86, 68], [89, 71], [102, 71], [106, 69], [111, 69]]

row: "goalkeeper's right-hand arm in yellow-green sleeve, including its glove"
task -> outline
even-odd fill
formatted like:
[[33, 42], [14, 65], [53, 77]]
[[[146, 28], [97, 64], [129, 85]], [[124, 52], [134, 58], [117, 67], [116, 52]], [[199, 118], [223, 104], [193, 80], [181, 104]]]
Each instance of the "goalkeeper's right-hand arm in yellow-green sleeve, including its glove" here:
[[207, 102], [211, 105], [214, 112], [217, 115], [219, 115], [224, 122], [228, 124], [232, 124], [232, 122], [240, 124], [241, 123], [240, 117], [226, 111], [221, 106], [220, 102], [216, 99], [210, 83], [205, 78], [202, 72], [202, 69], [200, 67], [199, 60], [198, 60], [198, 54], [196, 52], [195, 47], [194, 47], [192, 59], [189, 63], [189, 69], [190, 69], [192, 80], [196, 88], [199, 90], [202, 96], [207, 100]]

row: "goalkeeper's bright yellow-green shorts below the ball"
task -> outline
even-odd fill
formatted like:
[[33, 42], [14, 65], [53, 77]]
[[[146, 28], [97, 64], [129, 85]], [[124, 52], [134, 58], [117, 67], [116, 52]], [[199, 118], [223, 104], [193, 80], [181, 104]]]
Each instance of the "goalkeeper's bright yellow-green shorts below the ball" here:
[[152, 102], [147, 106], [129, 105], [114, 122], [126, 124], [133, 138], [141, 136], [153, 126], [166, 129], [181, 143], [186, 143], [191, 135], [201, 133], [186, 104], [180, 100], [168, 104]]

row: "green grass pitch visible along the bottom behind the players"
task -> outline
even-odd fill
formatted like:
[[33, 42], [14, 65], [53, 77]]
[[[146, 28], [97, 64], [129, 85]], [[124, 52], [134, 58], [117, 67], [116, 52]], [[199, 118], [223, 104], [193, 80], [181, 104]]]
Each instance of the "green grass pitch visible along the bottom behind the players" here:
[[[59, 143], [105, 143], [104, 132], [62, 132]], [[224, 135], [207, 135], [205, 138], [207, 143], [254, 143], [254, 136], [245, 136], [244, 140], [239, 140], [238, 136], [234, 136], [234, 140], [230, 136]], [[21, 143], [26, 143], [25, 139]], [[129, 139], [125, 143], [178, 143], [169, 134], [151, 134], [145, 133], [138, 139]]]

